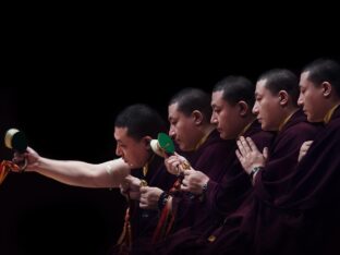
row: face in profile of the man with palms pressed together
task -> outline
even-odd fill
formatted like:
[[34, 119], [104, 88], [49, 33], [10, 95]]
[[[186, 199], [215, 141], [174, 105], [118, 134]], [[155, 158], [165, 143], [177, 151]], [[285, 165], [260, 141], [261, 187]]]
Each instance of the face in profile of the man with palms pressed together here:
[[263, 130], [278, 131], [284, 118], [280, 105], [281, 97], [280, 94], [274, 95], [266, 87], [266, 80], [256, 83], [253, 113], [256, 114]]

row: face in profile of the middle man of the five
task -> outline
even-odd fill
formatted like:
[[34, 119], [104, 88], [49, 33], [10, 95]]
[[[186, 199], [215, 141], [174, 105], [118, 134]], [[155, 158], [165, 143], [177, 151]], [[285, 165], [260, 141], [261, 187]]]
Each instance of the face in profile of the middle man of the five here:
[[[244, 104], [244, 102], [243, 102]], [[236, 138], [243, 130], [242, 116], [245, 114], [241, 102], [230, 105], [223, 99], [223, 92], [214, 92], [211, 96], [212, 114], [210, 122], [216, 125], [223, 139]]]

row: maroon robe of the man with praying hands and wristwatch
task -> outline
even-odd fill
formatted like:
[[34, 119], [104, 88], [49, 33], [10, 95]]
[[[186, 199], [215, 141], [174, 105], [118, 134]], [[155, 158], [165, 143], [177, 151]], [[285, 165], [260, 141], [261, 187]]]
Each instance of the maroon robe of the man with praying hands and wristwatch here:
[[[267, 166], [256, 174], [252, 195], [212, 232], [217, 236], [215, 242], [202, 240], [205, 248], [199, 253], [292, 254], [287, 253], [287, 247], [295, 243], [296, 231], [292, 234], [290, 230], [300, 215], [296, 211], [284, 214], [275, 208], [275, 203], [287, 192], [291, 177], [296, 173], [302, 143], [314, 139], [320, 129], [308, 123], [302, 111], [292, 116], [278, 133]], [[295, 218], [284, 220], [290, 214]]]

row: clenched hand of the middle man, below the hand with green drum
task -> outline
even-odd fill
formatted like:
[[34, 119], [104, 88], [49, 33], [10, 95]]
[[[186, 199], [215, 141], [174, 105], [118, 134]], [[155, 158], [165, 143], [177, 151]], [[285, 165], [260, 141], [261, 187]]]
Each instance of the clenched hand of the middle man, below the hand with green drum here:
[[181, 190], [195, 195], [201, 195], [203, 193], [204, 185], [207, 184], [209, 178], [206, 174], [192, 168], [184, 171]]

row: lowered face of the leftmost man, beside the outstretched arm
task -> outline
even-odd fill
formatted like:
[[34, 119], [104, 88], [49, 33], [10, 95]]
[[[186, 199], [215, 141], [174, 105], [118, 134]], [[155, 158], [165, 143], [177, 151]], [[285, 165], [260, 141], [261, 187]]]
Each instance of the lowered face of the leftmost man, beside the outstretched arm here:
[[150, 137], [141, 141], [127, 135], [127, 127], [114, 127], [117, 141], [116, 154], [121, 157], [132, 169], [144, 167], [150, 157]]

